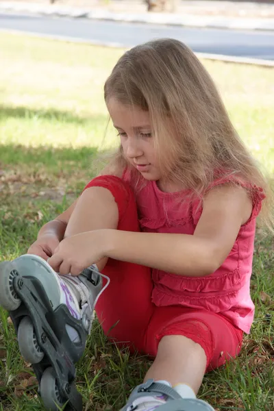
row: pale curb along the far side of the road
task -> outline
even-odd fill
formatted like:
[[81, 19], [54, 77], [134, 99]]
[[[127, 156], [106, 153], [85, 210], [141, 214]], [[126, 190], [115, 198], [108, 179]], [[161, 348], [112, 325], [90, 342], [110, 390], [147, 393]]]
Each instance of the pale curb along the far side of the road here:
[[27, 12], [31, 14], [89, 18], [91, 20], [123, 21], [127, 23], [148, 23], [214, 29], [241, 29], [274, 31], [274, 18], [228, 18], [225, 16], [197, 16], [195, 14], [175, 15], [171, 13], [114, 13], [103, 9], [90, 11], [84, 8], [68, 8], [58, 5], [37, 5], [32, 3], [0, 4], [2, 12]]

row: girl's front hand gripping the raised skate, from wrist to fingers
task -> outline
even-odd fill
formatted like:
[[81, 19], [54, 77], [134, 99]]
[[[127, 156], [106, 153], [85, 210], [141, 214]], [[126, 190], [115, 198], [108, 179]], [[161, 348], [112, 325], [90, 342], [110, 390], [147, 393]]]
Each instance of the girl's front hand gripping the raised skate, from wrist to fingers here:
[[105, 257], [106, 231], [97, 229], [65, 238], [49, 258], [49, 265], [62, 275], [79, 275]]

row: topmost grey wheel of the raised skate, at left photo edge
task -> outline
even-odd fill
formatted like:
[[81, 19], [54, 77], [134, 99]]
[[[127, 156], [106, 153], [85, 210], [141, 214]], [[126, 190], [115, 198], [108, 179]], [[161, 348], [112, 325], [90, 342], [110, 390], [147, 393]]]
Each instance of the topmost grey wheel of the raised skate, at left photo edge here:
[[9, 266], [8, 261], [0, 264], [0, 306], [5, 310], [13, 311], [20, 306], [21, 299], [18, 298], [12, 284], [18, 273], [16, 270], [11, 270]]

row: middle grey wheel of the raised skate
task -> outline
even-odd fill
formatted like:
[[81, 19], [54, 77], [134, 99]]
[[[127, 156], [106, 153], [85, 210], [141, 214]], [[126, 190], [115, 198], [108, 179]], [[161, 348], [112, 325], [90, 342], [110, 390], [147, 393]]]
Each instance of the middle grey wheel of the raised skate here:
[[44, 358], [45, 353], [38, 345], [34, 325], [28, 316], [23, 317], [19, 324], [18, 346], [27, 362], [38, 364]]

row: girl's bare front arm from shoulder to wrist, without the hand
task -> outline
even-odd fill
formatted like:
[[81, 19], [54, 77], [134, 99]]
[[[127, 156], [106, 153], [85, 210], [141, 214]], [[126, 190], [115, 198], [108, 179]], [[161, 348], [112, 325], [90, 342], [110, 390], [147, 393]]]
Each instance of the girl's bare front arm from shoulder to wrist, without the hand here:
[[178, 275], [209, 275], [227, 258], [251, 211], [252, 202], [244, 188], [219, 186], [206, 195], [193, 235], [113, 230], [107, 255]]

